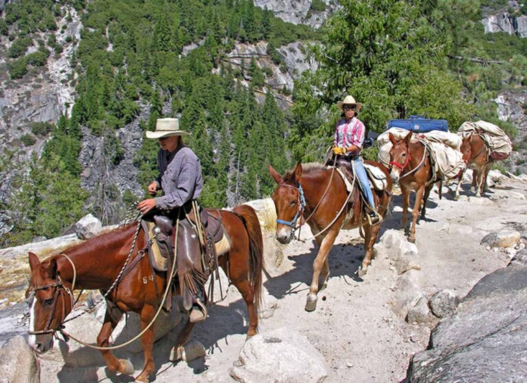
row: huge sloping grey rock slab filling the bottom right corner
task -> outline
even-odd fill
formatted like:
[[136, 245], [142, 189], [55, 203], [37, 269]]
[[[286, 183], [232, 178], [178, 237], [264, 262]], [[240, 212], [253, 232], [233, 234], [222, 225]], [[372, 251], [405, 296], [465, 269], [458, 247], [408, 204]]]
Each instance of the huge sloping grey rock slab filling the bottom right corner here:
[[408, 382], [526, 382], [527, 267], [483, 277], [415, 354]]

